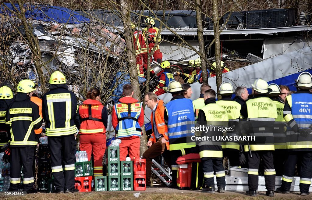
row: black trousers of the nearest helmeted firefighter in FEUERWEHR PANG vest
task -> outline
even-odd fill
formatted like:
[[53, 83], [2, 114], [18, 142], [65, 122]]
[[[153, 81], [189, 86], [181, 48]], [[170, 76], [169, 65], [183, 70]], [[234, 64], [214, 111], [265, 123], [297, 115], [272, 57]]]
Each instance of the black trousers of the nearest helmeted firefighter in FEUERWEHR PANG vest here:
[[252, 158], [248, 154], [248, 188], [258, 190], [259, 164], [262, 159], [264, 168], [264, 180], [268, 191], [275, 189], [275, 169], [273, 163], [273, 151], [251, 151]]

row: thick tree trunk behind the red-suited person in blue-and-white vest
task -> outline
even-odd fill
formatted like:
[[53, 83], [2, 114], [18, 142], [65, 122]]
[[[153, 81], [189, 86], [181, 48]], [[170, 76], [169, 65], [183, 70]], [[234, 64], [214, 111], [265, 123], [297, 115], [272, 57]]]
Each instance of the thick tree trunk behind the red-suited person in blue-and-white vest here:
[[[126, 49], [127, 49], [127, 60], [129, 63], [129, 70], [130, 70], [130, 80], [131, 84], [133, 85], [134, 89], [134, 98], [141, 101], [141, 91], [138, 79], [138, 70], [136, 66], [136, 57], [134, 51], [134, 44], [133, 44], [133, 32], [131, 30], [131, 20], [130, 20], [130, 11], [132, 10], [133, 1], [131, 0], [121, 0], [121, 13], [123, 16], [124, 22], [124, 30], [125, 30], [125, 40], [126, 40]], [[142, 136], [141, 136], [141, 143], [140, 143], [140, 155], [142, 155], [147, 150], [147, 136], [145, 132], [145, 125], [142, 127]]]

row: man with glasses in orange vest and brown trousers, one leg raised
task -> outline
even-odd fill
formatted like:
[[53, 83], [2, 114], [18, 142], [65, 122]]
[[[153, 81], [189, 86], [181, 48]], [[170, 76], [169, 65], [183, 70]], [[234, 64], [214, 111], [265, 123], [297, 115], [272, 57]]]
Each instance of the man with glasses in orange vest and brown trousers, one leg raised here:
[[[163, 118], [165, 111], [163, 100], [158, 101], [157, 96], [153, 92], [146, 93], [144, 95], [144, 100], [146, 106], [152, 110], [152, 135], [146, 144], [149, 149], [147, 149], [143, 154], [143, 159], [146, 159], [146, 186], [150, 186], [152, 159], [163, 154], [165, 150], [167, 150], [168, 153], [169, 138], [168, 128]], [[168, 155], [168, 157], [167, 155], [168, 154], [163, 154], [163, 157], [168, 166], [170, 166], [170, 156]]]

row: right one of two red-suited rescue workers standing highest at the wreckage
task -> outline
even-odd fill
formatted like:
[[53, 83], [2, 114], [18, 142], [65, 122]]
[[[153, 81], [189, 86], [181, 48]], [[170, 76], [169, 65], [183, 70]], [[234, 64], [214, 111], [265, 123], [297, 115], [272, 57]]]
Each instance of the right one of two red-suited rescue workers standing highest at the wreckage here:
[[145, 24], [147, 25], [147, 27], [144, 29], [144, 31], [146, 31], [147, 40], [149, 41], [149, 53], [153, 51], [155, 43], [158, 42], [153, 53], [153, 57], [154, 61], [161, 63], [163, 59], [163, 53], [160, 52], [159, 49], [159, 42], [161, 41], [160, 33], [158, 36], [159, 29], [155, 27], [155, 21], [152, 18], [147, 18], [145, 20]]

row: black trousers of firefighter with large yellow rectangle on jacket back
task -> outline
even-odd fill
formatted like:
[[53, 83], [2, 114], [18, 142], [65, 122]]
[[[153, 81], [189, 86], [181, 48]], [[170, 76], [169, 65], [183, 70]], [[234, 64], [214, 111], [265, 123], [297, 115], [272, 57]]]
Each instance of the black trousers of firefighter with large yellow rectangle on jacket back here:
[[74, 134], [61, 137], [48, 136], [48, 143], [56, 190], [72, 190], [75, 186], [76, 141]]

